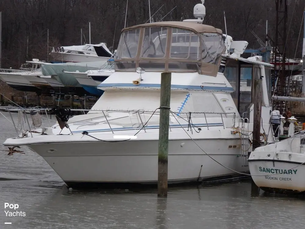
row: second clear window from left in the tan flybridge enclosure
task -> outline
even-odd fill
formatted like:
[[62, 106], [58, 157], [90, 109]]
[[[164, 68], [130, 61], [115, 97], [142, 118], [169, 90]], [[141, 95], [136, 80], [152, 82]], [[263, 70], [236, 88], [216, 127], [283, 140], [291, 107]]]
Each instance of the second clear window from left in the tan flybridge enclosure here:
[[166, 53], [167, 28], [145, 28], [142, 58], [163, 58]]

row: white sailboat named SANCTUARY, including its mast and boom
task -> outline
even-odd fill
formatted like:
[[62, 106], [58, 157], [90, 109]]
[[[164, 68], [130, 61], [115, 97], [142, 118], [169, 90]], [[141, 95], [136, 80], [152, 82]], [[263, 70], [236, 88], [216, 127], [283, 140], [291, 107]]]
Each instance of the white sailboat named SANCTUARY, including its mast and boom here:
[[[304, 12], [305, 14], [305, 12]], [[305, 29], [305, 24], [304, 24]], [[303, 38], [303, 69], [305, 69], [305, 34]], [[303, 70], [302, 90], [305, 94], [305, 71]], [[273, 96], [273, 100], [305, 102], [305, 98]], [[282, 119], [283, 120], [283, 119]], [[289, 138], [256, 148], [251, 152], [248, 162], [254, 183], [262, 190], [274, 194], [305, 193], [305, 130], [294, 133], [293, 116], [290, 122]], [[283, 122], [280, 132], [283, 133]]]

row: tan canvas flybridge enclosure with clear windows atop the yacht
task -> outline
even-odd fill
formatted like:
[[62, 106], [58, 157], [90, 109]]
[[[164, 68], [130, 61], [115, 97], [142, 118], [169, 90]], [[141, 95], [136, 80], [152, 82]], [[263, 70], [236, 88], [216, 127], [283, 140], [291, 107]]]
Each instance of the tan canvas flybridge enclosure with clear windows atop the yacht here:
[[199, 72], [216, 76], [225, 45], [222, 31], [190, 22], [156, 22], [122, 30], [116, 71]]

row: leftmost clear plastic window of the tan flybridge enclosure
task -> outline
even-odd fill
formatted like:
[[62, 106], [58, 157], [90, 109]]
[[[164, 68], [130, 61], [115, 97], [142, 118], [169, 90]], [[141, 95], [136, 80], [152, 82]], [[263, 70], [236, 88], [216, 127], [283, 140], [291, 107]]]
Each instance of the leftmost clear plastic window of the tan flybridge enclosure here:
[[124, 32], [120, 39], [120, 58], [135, 58], [138, 51], [140, 29]]

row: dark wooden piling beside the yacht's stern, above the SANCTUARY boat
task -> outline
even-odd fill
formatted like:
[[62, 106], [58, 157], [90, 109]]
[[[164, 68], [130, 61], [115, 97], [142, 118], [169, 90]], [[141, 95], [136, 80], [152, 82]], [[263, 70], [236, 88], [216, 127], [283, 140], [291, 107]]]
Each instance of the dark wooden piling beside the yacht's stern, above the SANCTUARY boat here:
[[255, 76], [253, 81], [253, 100], [254, 100], [254, 113], [253, 113], [253, 150], [260, 147], [260, 120], [262, 110], [262, 78]]

